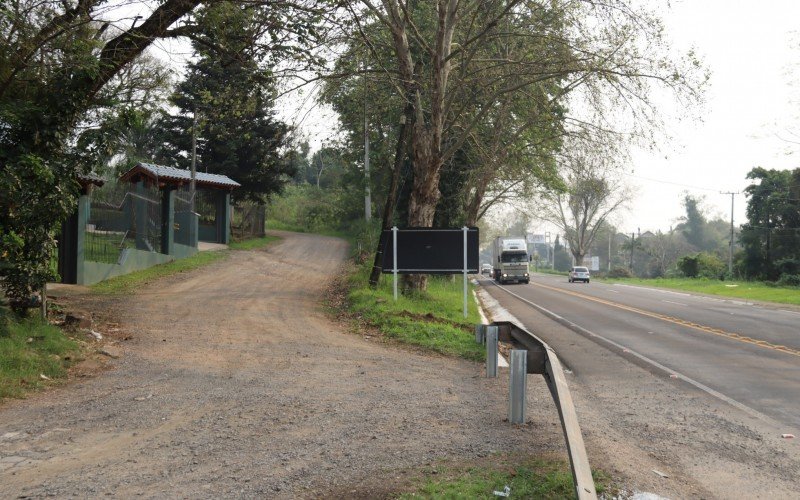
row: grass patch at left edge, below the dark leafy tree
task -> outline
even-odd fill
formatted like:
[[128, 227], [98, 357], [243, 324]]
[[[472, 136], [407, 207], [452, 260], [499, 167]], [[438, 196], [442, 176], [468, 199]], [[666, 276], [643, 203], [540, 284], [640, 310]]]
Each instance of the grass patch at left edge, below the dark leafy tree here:
[[38, 318], [9, 321], [0, 334], [0, 399], [20, 398], [44, 386], [48, 381], [42, 375], [66, 377], [79, 353], [76, 341]]

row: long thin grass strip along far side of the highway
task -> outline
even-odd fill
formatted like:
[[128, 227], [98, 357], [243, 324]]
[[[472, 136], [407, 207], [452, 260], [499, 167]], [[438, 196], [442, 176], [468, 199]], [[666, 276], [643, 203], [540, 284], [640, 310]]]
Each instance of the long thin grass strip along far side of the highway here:
[[743, 300], [800, 305], [800, 288], [769, 286], [757, 281], [719, 281], [704, 278], [604, 278], [600, 281], [669, 288]]

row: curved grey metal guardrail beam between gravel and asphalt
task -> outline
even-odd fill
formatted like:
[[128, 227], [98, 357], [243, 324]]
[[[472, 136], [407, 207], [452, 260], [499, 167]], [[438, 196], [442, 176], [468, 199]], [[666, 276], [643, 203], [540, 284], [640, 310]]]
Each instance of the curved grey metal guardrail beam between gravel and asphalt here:
[[[527, 373], [544, 376], [550, 394], [558, 409], [561, 428], [567, 442], [569, 463], [572, 468], [572, 481], [575, 493], [580, 500], [597, 499], [597, 491], [592, 479], [592, 469], [583, 444], [583, 435], [578, 425], [578, 416], [572, 396], [564, 377], [564, 370], [555, 351], [543, 340], [525, 328], [510, 321], [495, 321], [489, 326], [498, 328], [498, 340], [525, 349], [527, 353]], [[476, 332], [476, 339], [478, 333]]]

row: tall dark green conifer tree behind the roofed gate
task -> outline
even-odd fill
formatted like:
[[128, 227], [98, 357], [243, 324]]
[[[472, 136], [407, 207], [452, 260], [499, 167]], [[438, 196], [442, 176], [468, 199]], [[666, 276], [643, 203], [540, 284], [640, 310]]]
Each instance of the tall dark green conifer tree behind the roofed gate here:
[[229, 2], [198, 13], [204, 40], [194, 48], [200, 58], [189, 65], [171, 99], [180, 112], [161, 122], [167, 147], [159, 161], [188, 167], [195, 128], [198, 171], [239, 182], [234, 199], [265, 202], [283, 189], [295, 169], [280, 154], [289, 129], [274, 117], [275, 79], [260, 67], [261, 56], [252, 45], [258, 16], [258, 10]]

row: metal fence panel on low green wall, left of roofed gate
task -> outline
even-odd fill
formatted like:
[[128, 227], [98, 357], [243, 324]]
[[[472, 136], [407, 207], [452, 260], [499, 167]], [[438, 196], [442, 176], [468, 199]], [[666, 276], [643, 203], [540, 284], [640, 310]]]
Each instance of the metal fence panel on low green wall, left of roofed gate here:
[[158, 252], [161, 196], [156, 186], [109, 182], [92, 191], [84, 260], [116, 264], [125, 249]]

